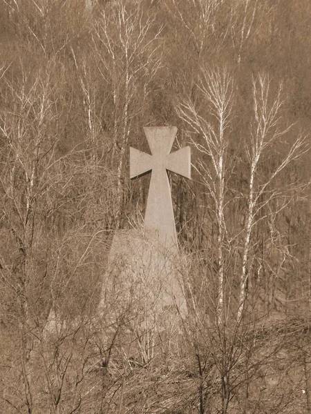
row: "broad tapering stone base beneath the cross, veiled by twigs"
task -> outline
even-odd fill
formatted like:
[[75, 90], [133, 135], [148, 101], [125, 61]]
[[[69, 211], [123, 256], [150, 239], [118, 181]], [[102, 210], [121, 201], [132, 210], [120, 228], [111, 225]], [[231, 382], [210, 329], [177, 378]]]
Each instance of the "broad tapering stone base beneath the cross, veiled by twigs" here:
[[111, 245], [100, 310], [117, 293], [122, 306], [147, 319], [158, 320], [167, 311], [185, 317], [187, 304], [179, 265], [178, 246], [163, 242], [156, 231], [118, 230]]

